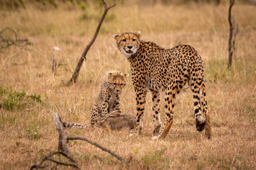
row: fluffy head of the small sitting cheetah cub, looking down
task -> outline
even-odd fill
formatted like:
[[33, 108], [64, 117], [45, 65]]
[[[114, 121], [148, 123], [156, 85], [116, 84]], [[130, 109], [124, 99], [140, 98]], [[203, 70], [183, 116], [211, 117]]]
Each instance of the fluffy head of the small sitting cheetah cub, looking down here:
[[107, 73], [107, 82], [110, 88], [116, 93], [121, 93], [124, 86], [127, 84], [128, 74], [112, 71]]

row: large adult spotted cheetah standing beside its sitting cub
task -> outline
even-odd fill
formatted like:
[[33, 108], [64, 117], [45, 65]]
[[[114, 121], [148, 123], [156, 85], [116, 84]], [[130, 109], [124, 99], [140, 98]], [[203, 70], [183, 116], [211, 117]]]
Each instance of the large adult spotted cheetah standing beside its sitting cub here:
[[[142, 116], [145, 107], [146, 91], [152, 94], [154, 112], [154, 136], [166, 137], [174, 122], [176, 94], [188, 82], [193, 91], [196, 129], [205, 129], [206, 137], [211, 137], [210, 114], [206, 102], [206, 87], [203, 82], [203, 60], [190, 45], [177, 45], [171, 49], [159, 47], [154, 42], [140, 40], [141, 32], [113, 35], [117, 47], [129, 61], [132, 84], [137, 101], [137, 128], [142, 133]], [[164, 106], [166, 119], [163, 128], [159, 114], [159, 92], [165, 91]], [[161, 131], [160, 131], [161, 129]], [[159, 132], [160, 131], [160, 132]]]

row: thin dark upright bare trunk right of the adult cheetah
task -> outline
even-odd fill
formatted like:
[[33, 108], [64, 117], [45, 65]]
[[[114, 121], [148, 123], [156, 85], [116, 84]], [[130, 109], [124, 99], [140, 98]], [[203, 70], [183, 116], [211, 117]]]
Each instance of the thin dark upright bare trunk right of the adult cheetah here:
[[232, 66], [233, 55], [235, 55], [235, 36], [238, 32], [238, 26], [235, 26], [235, 18], [231, 16], [231, 9], [235, 4], [235, 0], [230, 0], [228, 10], [228, 23], [230, 24], [230, 37], [228, 40], [228, 68]]

